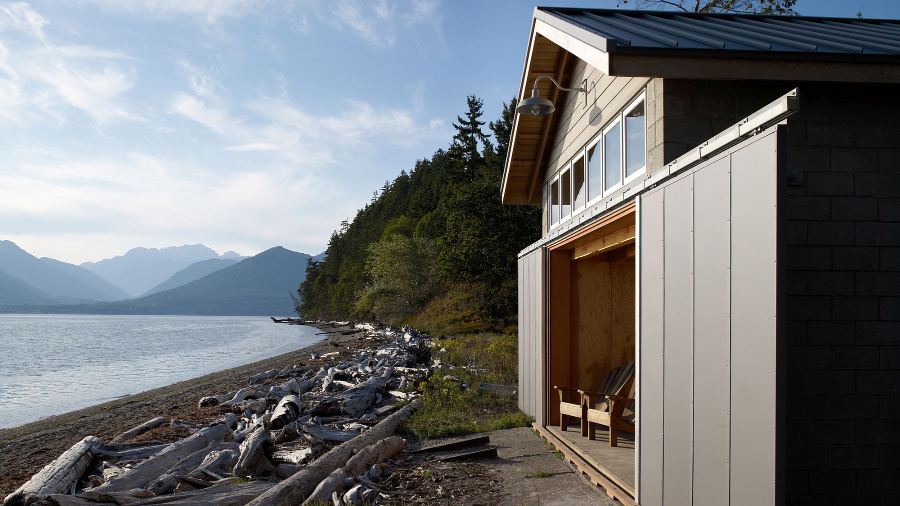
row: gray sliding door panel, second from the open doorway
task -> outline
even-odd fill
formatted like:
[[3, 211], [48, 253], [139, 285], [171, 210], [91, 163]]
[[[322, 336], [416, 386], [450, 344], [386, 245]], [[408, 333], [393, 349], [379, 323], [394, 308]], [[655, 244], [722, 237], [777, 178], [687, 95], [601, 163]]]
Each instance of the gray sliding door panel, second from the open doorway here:
[[663, 189], [662, 495], [668, 506], [689, 506], [692, 502], [693, 455], [685, 442], [693, 439], [693, 179], [688, 173]]

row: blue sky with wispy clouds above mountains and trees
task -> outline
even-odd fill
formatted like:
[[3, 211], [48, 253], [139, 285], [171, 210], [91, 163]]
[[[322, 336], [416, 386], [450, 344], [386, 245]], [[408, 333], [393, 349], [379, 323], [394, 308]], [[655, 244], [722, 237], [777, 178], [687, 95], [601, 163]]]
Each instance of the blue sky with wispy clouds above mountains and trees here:
[[[196, 243], [320, 253], [449, 145], [466, 95], [500, 116], [533, 5], [0, 0], [0, 239], [72, 263]], [[900, 18], [898, 0], [796, 9]]]

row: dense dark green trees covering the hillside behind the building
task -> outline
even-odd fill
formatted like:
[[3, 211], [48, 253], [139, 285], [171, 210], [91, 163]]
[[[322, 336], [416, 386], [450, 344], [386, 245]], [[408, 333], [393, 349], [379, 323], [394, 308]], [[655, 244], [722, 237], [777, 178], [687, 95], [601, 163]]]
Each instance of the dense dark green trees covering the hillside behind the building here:
[[385, 182], [309, 262], [303, 316], [410, 323], [432, 332], [515, 323], [517, 253], [540, 237], [540, 209], [500, 204], [515, 99], [496, 121], [467, 97], [446, 149]]

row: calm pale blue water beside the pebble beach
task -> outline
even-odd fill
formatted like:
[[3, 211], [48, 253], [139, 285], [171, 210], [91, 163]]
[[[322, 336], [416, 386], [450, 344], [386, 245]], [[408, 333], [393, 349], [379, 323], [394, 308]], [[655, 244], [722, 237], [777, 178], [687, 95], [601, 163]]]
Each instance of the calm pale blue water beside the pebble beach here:
[[316, 332], [252, 316], [0, 315], [0, 429], [298, 350]]

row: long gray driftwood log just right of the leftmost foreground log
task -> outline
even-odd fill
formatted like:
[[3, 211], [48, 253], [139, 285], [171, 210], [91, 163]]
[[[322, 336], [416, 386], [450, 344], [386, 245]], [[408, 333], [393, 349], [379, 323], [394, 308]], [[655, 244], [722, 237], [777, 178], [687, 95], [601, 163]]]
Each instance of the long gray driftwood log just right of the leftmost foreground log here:
[[96, 492], [121, 492], [132, 488], [144, 488], [182, 458], [191, 455], [198, 449], [204, 448], [210, 444], [210, 441], [224, 438], [229, 432], [227, 425], [207, 427], [185, 439], [172, 443], [168, 448], [140, 462], [137, 466], [112, 478], [112, 480], [96, 487], [94, 490]]

